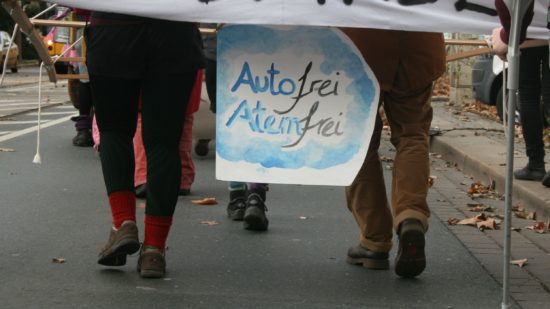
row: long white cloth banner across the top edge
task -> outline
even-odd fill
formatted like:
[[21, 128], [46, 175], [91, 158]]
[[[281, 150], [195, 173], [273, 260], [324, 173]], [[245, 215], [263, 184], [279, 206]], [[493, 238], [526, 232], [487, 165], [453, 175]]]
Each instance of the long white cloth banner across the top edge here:
[[[494, 0], [57, 0], [70, 7], [159, 19], [258, 25], [346, 26], [490, 34]], [[548, 38], [549, 0], [535, 0], [532, 38]]]

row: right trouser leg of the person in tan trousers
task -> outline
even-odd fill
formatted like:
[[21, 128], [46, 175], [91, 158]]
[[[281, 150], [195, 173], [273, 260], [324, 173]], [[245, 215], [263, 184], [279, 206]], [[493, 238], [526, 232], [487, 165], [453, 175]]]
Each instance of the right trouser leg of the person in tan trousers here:
[[[399, 76], [399, 74], [397, 74]], [[409, 218], [428, 228], [428, 132], [432, 121], [432, 84], [421, 89], [403, 90], [399, 80], [384, 97], [384, 110], [396, 148], [392, 179], [392, 208], [395, 228]]]

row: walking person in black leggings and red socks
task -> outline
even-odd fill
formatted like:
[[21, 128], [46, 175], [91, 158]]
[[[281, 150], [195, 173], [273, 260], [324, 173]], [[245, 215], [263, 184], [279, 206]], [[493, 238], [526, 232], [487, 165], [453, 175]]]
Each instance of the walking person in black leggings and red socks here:
[[137, 270], [141, 277], [160, 278], [179, 192], [182, 125], [197, 70], [204, 66], [200, 34], [193, 23], [92, 12], [86, 43], [112, 214], [98, 263], [121, 266], [140, 250], [132, 139], [141, 96], [148, 188]]

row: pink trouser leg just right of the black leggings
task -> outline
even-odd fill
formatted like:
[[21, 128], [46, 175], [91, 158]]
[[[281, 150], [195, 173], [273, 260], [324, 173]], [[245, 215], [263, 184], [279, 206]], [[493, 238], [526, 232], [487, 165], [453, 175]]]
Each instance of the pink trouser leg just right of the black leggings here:
[[179, 195], [189, 195], [191, 193], [191, 185], [195, 181], [195, 163], [191, 156], [193, 148], [193, 119], [193, 114], [185, 115], [183, 132], [180, 139], [181, 184]]

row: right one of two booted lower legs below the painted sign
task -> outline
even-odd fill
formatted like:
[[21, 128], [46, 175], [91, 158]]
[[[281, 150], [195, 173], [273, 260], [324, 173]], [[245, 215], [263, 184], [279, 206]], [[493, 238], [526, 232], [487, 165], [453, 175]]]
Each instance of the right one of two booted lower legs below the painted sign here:
[[269, 187], [265, 183], [248, 183], [247, 186], [248, 192], [243, 216], [244, 228], [246, 230], [265, 231], [269, 225], [269, 220], [265, 216], [267, 211], [265, 199]]

